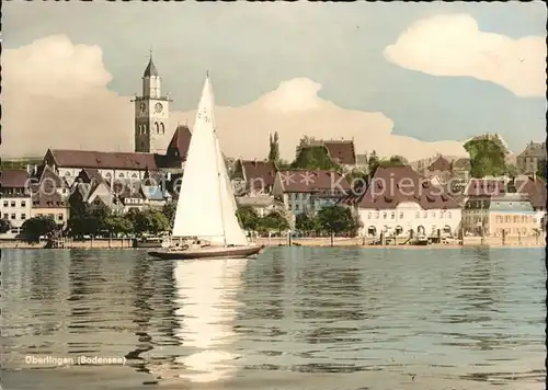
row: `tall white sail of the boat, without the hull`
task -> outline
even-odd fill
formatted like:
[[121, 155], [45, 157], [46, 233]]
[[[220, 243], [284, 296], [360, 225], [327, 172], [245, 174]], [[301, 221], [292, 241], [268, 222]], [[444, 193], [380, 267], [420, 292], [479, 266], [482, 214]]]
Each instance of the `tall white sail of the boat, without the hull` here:
[[189, 146], [173, 237], [197, 237], [212, 243], [246, 245], [236, 202], [215, 131], [214, 95], [207, 77]]

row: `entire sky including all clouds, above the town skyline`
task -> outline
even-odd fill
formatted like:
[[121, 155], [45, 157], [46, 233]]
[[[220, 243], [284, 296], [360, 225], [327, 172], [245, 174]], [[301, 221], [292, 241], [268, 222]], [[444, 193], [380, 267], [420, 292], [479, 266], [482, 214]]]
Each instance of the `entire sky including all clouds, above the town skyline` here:
[[499, 133], [546, 138], [543, 2], [8, 2], [2, 9], [4, 157], [48, 147], [132, 150], [129, 99], [152, 49], [171, 129], [192, 126], [212, 76], [221, 146], [283, 157], [302, 135], [357, 152], [466, 154]]

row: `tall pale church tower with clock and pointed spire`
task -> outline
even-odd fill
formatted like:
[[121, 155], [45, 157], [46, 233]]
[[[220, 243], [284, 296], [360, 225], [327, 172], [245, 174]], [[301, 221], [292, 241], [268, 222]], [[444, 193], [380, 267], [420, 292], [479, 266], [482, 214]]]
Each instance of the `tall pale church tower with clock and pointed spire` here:
[[161, 94], [161, 78], [152, 61], [152, 53], [142, 74], [142, 94], [132, 102], [135, 102], [135, 151], [163, 154], [170, 140], [171, 100]]

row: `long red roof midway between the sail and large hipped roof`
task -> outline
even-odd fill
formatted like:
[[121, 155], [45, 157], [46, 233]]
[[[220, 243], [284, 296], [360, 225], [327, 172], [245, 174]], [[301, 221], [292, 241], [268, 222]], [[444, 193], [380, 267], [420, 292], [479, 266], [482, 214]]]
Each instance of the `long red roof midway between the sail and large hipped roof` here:
[[278, 171], [276, 181], [282, 184], [284, 193], [313, 193], [318, 191], [347, 191], [350, 183], [334, 171]]

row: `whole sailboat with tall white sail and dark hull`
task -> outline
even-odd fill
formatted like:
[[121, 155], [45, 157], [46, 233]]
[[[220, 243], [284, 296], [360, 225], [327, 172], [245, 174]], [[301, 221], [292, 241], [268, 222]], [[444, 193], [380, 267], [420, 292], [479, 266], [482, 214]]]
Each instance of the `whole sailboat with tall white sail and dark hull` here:
[[[207, 74], [186, 154], [168, 248], [148, 252], [162, 260], [248, 257], [264, 245], [250, 243], [237, 205], [215, 127], [214, 94]], [[179, 243], [172, 244], [179, 239]], [[183, 241], [184, 239], [184, 241]]]

